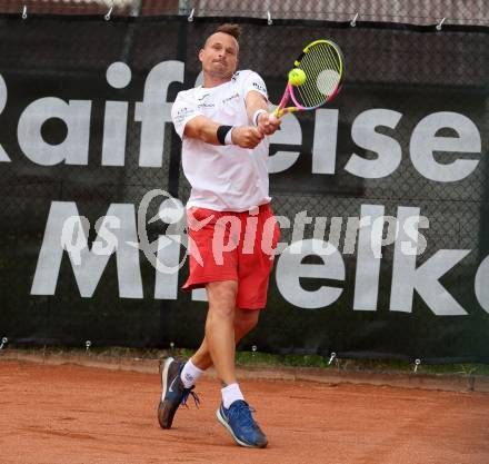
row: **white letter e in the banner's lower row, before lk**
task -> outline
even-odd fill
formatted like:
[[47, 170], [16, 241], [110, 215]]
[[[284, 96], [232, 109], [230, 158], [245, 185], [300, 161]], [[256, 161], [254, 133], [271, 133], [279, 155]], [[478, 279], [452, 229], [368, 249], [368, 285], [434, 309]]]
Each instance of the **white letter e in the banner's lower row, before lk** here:
[[[301, 251], [292, 253], [292, 247]], [[302, 264], [308, 255], [319, 256], [323, 264]], [[305, 290], [300, 285], [301, 277], [345, 280], [345, 261], [338, 249], [331, 244], [313, 238], [301, 240], [299, 244], [293, 243], [283, 250], [277, 261], [276, 279], [279, 292], [289, 303], [305, 309], [331, 305], [340, 297], [343, 289], [321, 285], [317, 290]]]

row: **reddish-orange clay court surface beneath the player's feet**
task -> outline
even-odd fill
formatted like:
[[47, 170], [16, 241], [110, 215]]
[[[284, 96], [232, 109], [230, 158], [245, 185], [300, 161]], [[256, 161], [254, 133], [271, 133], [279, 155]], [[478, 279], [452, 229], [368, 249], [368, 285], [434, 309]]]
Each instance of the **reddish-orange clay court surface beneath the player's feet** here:
[[315, 382], [242, 382], [269, 438], [237, 446], [216, 419], [219, 384], [170, 431], [156, 374], [0, 362], [1, 464], [487, 464], [489, 395]]

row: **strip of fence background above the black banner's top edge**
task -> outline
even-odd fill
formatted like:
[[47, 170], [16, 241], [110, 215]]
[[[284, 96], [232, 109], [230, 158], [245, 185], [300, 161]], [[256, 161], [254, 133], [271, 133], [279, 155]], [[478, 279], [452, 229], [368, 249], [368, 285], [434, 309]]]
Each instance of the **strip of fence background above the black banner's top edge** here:
[[[24, 10], [24, 7], [27, 10]], [[489, 24], [486, 0], [2, 0], [0, 12], [247, 17], [323, 21], [387, 21], [411, 24]]]

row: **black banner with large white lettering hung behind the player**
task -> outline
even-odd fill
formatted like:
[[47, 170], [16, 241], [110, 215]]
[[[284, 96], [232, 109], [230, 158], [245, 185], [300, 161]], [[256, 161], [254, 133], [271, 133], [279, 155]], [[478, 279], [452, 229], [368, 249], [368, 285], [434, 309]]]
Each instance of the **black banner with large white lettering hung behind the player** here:
[[[198, 346], [170, 110], [227, 20], [0, 17], [0, 336]], [[240, 347], [488, 362], [488, 30], [237, 21], [275, 103], [308, 42], [346, 57], [333, 103], [271, 139], [281, 253]]]

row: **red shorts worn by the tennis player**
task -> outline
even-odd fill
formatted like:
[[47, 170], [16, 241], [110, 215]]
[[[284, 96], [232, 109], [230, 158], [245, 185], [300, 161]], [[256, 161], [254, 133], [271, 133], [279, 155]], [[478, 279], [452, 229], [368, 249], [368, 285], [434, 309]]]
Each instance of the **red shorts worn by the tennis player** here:
[[237, 306], [263, 308], [280, 237], [270, 206], [244, 213], [190, 208], [187, 217], [190, 275], [182, 288], [191, 290], [211, 282], [236, 280]]

